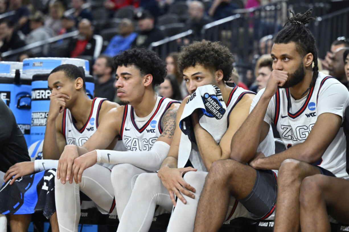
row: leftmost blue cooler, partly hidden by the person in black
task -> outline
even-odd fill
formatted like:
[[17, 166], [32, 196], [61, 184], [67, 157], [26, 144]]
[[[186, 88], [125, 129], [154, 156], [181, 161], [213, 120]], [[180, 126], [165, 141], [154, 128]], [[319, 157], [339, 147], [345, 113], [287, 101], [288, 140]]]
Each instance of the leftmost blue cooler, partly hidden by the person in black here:
[[22, 65], [21, 62], [0, 62], [0, 98], [12, 110], [29, 146], [31, 78], [22, 74]]

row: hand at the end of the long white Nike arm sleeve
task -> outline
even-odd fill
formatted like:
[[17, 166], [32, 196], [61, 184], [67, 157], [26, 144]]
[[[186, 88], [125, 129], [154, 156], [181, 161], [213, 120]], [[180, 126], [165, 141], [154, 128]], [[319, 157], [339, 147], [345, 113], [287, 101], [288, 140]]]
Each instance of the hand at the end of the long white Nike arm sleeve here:
[[76, 158], [73, 164], [73, 175], [75, 183], [81, 182], [82, 173], [85, 169], [92, 167], [97, 163], [97, 152], [92, 150]]

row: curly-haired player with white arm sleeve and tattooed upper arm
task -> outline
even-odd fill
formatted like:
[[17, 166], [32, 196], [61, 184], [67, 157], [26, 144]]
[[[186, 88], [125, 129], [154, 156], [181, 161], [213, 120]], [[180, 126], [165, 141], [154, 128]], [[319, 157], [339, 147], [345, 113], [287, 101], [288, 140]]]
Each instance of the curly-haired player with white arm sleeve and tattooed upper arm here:
[[[159, 97], [154, 91], [164, 81], [165, 63], [153, 51], [134, 48], [115, 56], [114, 64], [117, 95], [127, 105], [106, 113], [105, 120], [83, 146], [65, 146], [55, 179], [61, 232], [77, 232], [79, 191], [104, 214], [116, 207], [121, 218], [132, 181], [143, 172], [158, 170], [170, 148], [179, 102]], [[126, 151], [99, 150], [115, 138], [122, 140]], [[111, 172], [97, 162], [110, 164]], [[111, 184], [106, 186], [109, 180]], [[111, 197], [102, 199], [102, 191], [109, 191]]]

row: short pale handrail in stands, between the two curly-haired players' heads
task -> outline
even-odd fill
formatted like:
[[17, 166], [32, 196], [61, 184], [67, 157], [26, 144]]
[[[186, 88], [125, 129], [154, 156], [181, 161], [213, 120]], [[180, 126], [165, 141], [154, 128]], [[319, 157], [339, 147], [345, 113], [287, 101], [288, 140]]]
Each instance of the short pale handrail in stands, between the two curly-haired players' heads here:
[[190, 41], [192, 36], [193, 31], [187, 30], [163, 40], [152, 42], [148, 49], [155, 51], [164, 60], [169, 53], [178, 52], [180, 46], [187, 43], [186, 39]]

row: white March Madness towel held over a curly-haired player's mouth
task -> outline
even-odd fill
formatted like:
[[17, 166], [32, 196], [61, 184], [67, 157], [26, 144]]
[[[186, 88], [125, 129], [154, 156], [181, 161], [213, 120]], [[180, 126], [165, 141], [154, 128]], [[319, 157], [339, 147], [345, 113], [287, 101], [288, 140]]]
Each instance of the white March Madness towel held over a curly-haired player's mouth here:
[[186, 102], [180, 117], [181, 137], [178, 151], [178, 168], [185, 167], [188, 160], [199, 171], [207, 171], [196, 146], [191, 114], [198, 110], [199, 123], [219, 144], [227, 131], [227, 106], [221, 90], [215, 85], [198, 87]]

